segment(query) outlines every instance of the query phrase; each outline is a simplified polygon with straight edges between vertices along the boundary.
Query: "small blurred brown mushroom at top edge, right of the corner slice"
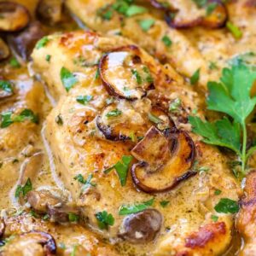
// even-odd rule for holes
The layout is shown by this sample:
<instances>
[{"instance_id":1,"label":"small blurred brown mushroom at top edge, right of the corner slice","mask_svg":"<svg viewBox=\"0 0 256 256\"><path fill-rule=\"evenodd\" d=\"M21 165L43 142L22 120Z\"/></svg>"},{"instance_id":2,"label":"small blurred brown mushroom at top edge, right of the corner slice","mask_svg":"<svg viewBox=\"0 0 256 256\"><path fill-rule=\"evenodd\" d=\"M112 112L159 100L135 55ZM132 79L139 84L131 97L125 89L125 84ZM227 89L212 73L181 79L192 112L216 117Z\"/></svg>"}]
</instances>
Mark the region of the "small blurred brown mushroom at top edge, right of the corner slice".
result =
<instances>
[{"instance_id":1,"label":"small blurred brown mushroom at top edge, right of the corner slice","mask_svg":"<svg viewBox=\"0 0 256 256\"><path fill-rule=\"evenodd\" d=\"M40 0L37 7L39 20L48 24L56 24L61 21L62 0Z\"/></svg>"}]
</instances>

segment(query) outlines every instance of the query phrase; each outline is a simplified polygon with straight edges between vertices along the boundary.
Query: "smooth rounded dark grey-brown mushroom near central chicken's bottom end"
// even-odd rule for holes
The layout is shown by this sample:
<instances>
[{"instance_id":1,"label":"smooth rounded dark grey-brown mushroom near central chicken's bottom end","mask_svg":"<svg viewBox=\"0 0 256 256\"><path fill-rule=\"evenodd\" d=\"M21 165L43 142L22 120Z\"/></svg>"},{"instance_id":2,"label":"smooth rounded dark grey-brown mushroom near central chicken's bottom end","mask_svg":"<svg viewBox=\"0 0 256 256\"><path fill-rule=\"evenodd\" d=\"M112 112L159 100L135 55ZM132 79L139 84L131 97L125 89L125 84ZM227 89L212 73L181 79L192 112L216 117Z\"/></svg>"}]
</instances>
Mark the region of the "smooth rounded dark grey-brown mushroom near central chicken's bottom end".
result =
<instances>
[{"instance_id":1,"label":"smooth rounded dark grey-brown mushroom near central chicken's bottom end","mask_svg":"<svg viewBox=\"0 0 256 256\"><path fill-rule=\"evenodd\" d=\"M131 243L153 241L160 231L163 218L159 211L147 209L128 215L119 230L119 236Z\"/></svg>"}]
</instances>

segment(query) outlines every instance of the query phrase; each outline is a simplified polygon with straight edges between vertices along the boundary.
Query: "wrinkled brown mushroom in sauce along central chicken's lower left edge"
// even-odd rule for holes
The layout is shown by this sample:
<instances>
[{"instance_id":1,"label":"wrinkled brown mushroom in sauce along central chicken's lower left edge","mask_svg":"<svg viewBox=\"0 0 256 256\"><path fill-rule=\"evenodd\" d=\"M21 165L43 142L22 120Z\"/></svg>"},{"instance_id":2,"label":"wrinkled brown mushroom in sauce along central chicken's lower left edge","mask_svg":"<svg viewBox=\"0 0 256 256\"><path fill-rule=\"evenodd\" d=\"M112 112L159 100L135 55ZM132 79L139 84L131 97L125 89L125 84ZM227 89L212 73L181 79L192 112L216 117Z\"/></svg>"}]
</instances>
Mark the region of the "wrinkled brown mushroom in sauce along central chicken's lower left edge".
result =
<instances>
[{"instance_id":1,"label":"wrinkled brown mushroom in sauce along central chicken's lower left edge","mask_svg":"<svg viewBox=\"0 0 256 256\"><path fill-rule=\"evenodd\" d=\"M74 207L68 207L66 202L47 190L32 190L27 194L27 201L35 212L47 213L52 222L65 223L69 221L69 214L78 214Z\"/></svg>"}]
</instances>

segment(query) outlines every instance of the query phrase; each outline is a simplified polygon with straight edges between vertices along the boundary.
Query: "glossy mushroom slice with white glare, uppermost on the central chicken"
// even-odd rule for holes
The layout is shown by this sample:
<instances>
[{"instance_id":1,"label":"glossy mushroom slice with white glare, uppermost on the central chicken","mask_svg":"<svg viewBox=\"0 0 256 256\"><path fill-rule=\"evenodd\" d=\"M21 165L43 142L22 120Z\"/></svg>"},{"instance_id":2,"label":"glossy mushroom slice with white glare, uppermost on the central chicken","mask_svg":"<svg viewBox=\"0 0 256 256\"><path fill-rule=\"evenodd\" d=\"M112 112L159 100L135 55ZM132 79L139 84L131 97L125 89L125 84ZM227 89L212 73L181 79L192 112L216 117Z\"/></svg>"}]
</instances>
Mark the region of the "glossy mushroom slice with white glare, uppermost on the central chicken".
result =
<instances>
[{"instance_id":1,"label":"glossy mushroom slice with white glare, uppermost on the central chicken","mask_svg":"<svg viewBox=\"0 0 256 256\"><path fill-rule=\"evenodd\" d=\"M143 61L140 49L127 45L102 56L99 69L108 93L121 99L136 100L154 89L150 63Z\"/></svg>"}]
</instances>

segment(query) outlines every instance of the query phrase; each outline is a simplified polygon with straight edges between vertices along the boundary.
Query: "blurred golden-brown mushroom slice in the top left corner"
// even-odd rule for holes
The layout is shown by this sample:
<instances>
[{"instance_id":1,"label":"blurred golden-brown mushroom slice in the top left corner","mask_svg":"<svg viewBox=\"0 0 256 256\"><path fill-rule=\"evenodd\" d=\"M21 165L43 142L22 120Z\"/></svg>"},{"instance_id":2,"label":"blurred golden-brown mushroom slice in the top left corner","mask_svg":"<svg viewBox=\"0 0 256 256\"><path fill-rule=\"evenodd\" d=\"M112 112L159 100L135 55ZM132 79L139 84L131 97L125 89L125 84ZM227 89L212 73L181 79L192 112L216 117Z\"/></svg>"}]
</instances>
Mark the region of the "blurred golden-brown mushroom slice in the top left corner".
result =
<instances>
[{"instance_id":1,"label":"blurred golden-brown mushroom slice in the top left corner","mask_svg":"<svg viewBox=\"0 0 256 256\"><path fill-rule=\"evenodd\" d=\"M17 32L30 21L28 10L19 3L0 2L0 31Z\"/></svg>"}]
</instances>

